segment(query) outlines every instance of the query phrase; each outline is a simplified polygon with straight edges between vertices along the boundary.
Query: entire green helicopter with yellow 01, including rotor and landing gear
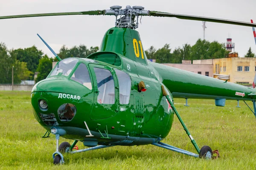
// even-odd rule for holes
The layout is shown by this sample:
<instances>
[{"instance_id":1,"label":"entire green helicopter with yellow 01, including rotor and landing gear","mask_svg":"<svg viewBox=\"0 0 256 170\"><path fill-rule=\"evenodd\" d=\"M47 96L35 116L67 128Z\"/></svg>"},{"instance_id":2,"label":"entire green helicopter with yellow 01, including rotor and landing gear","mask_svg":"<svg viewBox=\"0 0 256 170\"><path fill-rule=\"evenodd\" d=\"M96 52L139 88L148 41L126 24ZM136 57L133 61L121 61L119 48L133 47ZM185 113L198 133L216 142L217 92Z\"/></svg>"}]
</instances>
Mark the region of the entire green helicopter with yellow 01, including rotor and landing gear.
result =
<instances>
[{"instance_id":1,"label":"entire green helicopter with yellow 01, including rotor and landing gear","mask_svg":"<svg viewBox=\"0 0 256 170\"><path fill-rule=\"evenodd\" d=\"M32 90L32 105L36 119L56 136L54 163L64 162L59 150L76 153L115 145L139 144L154 144L189 156L211 158L211 148L204 146L199 150L186 129L173 105L172 95L182 98L215 99L217 106L224 106L225 99L250 100L253 101L255 108L256 91L148 62L140 36L134 30L138 27L138 17L150 15L242 26L256 25L145 11L141 6L120 8L112 6L110 10L0 17L8 19L73 14L116 16L116 27L106 32L99 52L87 59L64 60L59 59L53 52L61 61L48 78L36 84ZM117 20L119 15L121 17ZM136 17L137 23L134 22ZM177 115L199 155L160 142L171 129L173 113ZM75 141L71 146L63 142L58 148L59 136ZM71 151L78 141L92 148ZM101 145L97 146L98 144ZM218 152L216 153L218 155Z\"/></svg>"}]
</instances>

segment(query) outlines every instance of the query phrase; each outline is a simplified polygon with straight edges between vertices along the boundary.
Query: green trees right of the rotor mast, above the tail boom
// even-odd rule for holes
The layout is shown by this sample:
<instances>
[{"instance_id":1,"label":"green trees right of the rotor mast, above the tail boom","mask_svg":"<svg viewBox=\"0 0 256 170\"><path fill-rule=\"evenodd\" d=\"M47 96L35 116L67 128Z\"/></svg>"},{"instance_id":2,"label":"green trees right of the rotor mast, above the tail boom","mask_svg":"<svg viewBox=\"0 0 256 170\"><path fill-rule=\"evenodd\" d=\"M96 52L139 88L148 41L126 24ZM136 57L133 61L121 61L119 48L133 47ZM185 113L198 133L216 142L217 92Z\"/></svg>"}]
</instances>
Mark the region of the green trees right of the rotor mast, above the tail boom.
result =
<instances>
[{"instance_id":1,"label":"green trees right of the rotor mast, above the tail boom","mask_svg":"<svg viewBox=\"0 0 256 170\"><path fill-rule=\"evenodd\" d=\"M166 44L158 50L151 46L145 51L148 59L156 59L158 63L182 63L182 60L224 58L228 53L224 43L201 39L198 39L195 45L191 46L186 43L174 50L170 48L169 44ZM244 57L255 57L255 54L249 48Z\"/></svg>"}]
</instances>

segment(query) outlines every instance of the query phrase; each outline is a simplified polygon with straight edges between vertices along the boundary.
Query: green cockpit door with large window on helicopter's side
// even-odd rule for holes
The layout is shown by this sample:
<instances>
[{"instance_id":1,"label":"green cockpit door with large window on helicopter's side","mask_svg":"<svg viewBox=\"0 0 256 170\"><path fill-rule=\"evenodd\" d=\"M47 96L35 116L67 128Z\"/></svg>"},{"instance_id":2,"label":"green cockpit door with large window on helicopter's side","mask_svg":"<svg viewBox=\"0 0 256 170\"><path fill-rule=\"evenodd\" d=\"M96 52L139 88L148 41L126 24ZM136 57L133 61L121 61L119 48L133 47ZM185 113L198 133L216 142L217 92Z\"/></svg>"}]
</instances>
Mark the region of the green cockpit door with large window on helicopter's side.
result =
<instances>
[{"instance_id":1,"label":"green cockpit door with large window on helicopter's side","mask_svg":"<svg viewBox=\"0 0 256 170\"><path fill-rule=\"evenodd\" d=\"M94 105L90 118L106 119L118 113L117 80L113 70L108 66L89 64L93 77Z\"/></svg>"}]
</instances>

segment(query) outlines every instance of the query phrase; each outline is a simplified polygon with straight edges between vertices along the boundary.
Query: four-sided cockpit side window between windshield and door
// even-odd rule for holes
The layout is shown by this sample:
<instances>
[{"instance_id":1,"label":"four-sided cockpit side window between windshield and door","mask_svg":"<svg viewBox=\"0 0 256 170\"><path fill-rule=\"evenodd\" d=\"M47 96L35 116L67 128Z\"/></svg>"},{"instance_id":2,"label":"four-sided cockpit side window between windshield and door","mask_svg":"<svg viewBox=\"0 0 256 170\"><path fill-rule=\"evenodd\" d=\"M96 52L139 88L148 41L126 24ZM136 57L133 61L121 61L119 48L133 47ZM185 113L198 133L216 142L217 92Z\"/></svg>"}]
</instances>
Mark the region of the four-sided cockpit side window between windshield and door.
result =
<instances>
[{"instance_id":1,"label":"four-sided cockpit side window between windshield and door","mask_svg":"<svg viewBox=\"0 0 256 170\"><path fill-rule=\"evenodd\" d=\"M72 75L71 79L76 82L79 82L80 84L92 90L92 83L90 80L89 71L85 64L81 63L78 66L75 73Z\"/></svg>"}]
</instances>

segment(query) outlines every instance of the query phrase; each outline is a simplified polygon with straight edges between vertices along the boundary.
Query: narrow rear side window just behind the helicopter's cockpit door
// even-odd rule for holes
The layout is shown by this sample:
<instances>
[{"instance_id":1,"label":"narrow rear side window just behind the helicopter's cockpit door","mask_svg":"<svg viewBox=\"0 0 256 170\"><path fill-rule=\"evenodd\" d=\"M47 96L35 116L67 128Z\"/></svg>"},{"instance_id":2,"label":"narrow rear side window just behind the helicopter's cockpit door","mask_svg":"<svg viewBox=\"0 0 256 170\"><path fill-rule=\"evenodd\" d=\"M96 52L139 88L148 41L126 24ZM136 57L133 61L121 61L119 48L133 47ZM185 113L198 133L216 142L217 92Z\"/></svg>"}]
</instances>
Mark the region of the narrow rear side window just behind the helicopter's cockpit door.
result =
<instances>
[{"instance_id":1,"label":"narrow rear side window just behind the helicopter's cockpit door","mask_svg":"<svg viewBox=\"0 0 256 170\"><path fill-rule=\"evenodd\" d=\"M131 78L124 71L115 69L119 84L119 103L121 105L129 104L131 93Z\"/></svg>"}]
</instances>

